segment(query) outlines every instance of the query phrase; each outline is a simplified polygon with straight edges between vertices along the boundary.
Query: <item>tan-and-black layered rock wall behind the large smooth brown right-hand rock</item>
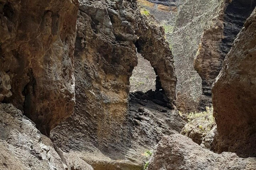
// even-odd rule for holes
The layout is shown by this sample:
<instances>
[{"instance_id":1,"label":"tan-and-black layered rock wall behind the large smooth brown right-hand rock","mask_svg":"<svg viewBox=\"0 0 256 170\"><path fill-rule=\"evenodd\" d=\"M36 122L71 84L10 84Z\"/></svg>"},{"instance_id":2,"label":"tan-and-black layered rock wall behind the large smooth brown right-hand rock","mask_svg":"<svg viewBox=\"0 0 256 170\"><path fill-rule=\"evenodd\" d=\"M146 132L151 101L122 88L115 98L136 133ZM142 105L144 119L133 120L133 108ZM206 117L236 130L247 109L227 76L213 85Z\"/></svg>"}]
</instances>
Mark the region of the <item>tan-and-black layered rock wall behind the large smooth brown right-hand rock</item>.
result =
<instances>
[{"instance_id":1,"label":"tan-and-black layered rock wall behind the large smooth brown right-hand rock","mask_svg":"<svg viewBox=\"0 0 256 170\"><path fill-rule=\"evenodd\" d=\"M204 31L194 63L195 70L202 78L202 109L211 105L213 81L218 76L223 60L237 34L255 6L255 0L222 0L213 24Z\"/></svg>"}]
</instances>

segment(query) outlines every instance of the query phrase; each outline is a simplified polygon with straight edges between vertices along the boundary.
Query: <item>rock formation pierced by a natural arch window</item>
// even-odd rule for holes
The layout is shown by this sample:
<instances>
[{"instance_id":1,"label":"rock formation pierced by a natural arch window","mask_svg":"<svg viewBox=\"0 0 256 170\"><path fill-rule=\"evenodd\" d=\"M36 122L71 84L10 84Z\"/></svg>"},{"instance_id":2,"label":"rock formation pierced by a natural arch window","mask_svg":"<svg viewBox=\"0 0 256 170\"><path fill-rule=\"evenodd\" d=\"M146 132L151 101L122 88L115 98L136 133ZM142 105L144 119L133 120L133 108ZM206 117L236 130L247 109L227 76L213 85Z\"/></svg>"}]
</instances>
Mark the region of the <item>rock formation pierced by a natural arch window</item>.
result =
<instances>
[{"instance_id":1,"label":"rock formation pierced by a natural arch window","mask_svg":"<svg viewBox=\"0 0 256 170\"><path fill-rule=\"evenodd\" d=\"M152 99L139 95L142 104L135 102L135 107L128 102L137 52L150 61L157 77ZM154 104L175 108L174 61L163 28L148 24L136 1L82 0L74 56L75 112L53 129L51 139L95 170L141 169L145 149L185 124L177 111ZM148 111L139 112L143 106ZM178 128L170 122L178 122Z\"/></svg>"}]
</instances>

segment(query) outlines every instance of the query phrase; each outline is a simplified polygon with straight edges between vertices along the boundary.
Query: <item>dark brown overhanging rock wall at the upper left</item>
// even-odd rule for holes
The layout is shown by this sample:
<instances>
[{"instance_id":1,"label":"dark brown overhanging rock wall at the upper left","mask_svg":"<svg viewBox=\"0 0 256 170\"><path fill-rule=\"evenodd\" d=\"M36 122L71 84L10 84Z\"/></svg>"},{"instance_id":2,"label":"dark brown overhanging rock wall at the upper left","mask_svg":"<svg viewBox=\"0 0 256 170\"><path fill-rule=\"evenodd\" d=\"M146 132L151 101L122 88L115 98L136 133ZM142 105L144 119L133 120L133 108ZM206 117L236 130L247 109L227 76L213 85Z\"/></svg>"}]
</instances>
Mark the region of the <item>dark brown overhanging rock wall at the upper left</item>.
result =
<instances>
[{"instance_id":1,"label":"dark brown overhanging rock wall at the upper left","mask_svg":"<svg viewBox=\"0 0 256 170\"><path fill-rule=\"evenodd\" d=\"M0 0L0 102L45 135L74 110L76 0Z\"/></svg>"}]
</instances>

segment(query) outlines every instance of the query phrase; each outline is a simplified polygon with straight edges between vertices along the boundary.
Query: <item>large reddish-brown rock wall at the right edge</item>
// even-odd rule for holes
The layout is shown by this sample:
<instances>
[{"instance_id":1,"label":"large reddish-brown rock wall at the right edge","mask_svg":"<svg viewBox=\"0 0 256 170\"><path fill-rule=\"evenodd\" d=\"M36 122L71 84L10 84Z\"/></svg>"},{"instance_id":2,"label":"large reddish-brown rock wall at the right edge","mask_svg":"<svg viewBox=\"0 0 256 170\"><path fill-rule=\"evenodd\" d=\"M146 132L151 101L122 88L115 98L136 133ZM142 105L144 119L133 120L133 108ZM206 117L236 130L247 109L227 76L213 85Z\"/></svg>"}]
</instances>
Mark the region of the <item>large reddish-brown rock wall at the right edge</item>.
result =
<instances>
[{"instance_id":1,"label":"large reddish-brown rock wall at the right edge","mask_svg":"<svg viewBox=\"0 0 256 170\"><path fill-rule=\"evenodd\" d=\"M213 85L216 150L256 156L256 13L244 24Z\"/></svg>"}]
</instances>

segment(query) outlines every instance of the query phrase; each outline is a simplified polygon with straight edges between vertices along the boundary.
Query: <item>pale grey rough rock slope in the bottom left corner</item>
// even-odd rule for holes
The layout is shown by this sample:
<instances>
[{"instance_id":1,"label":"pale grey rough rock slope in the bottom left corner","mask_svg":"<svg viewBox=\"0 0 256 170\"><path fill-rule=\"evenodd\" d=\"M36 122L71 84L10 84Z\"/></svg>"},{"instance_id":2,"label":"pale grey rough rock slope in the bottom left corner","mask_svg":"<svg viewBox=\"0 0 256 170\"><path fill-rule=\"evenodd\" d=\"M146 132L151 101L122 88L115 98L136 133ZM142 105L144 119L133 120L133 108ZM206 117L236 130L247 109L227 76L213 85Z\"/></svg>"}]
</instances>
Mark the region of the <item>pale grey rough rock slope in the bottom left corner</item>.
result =
<instances>
[{"instance_id":1,"label":"pale grey rough rock slope in the bottom left corner","mask_svg":"<svg viewBox=\"0 0 256 170\"><path fill-rule=\"evenodd\" d=\"M67 157L12 104L0 104L0 132L1 170L93 170L76 155Z\"/></svg>"}]
</instances>

